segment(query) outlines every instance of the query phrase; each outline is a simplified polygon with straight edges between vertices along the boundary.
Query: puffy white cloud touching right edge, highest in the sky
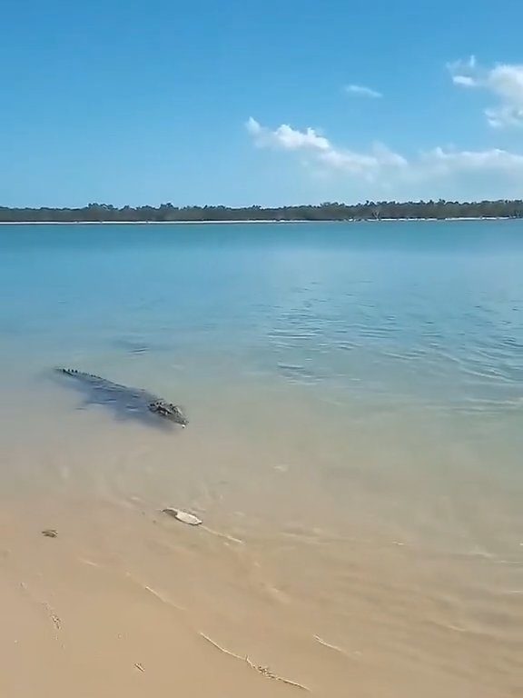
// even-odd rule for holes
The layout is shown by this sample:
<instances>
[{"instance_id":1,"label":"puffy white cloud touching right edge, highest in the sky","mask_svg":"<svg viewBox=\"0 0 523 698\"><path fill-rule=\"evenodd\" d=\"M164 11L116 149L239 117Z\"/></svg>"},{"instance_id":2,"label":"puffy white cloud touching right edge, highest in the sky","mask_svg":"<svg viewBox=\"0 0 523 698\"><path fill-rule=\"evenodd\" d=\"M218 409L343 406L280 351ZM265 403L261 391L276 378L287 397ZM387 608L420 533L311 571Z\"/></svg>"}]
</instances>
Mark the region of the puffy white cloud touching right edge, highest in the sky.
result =
<instances>
[{"instance_id":1,"label":"puffy white cloud touching right edge, highest in the sky","mask_svg":"<svg viewBox=\"0 0 523 698\"><path fill-rule=\"evenodd\" d=\"M489 125L523 126L523 65L498 64L487 69L471 56L448 67L455 85L482 88L498 98L498 105L485 109Z\"/></svg>"}]
</instances>

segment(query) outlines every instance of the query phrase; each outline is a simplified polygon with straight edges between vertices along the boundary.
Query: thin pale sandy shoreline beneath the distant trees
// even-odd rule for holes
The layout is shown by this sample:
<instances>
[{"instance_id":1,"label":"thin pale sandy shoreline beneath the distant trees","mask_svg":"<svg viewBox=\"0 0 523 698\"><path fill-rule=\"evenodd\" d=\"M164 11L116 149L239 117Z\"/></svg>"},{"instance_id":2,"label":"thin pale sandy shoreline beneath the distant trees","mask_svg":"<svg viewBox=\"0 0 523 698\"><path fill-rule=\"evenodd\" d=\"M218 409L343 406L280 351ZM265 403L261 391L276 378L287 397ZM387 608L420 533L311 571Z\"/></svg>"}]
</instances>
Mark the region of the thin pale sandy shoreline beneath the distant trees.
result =
<instances>
[{"instance_id":1,"label":"thin pale sandy shoreline beneath the distant trees","mask_svg":"<svg viewBox=\"0 0 523 698\"><path fill-rule=\"evenodd\" d=\"M239 224L352 224L352 223L408 223L416 221L432 221L444 223L446 221L518 221L509 215L483 215L483 216L456 216L449 218L352 218L331 220L231 220L231 221L0 221L0 225L239 225Z\"/></svg>"}]
</instances>

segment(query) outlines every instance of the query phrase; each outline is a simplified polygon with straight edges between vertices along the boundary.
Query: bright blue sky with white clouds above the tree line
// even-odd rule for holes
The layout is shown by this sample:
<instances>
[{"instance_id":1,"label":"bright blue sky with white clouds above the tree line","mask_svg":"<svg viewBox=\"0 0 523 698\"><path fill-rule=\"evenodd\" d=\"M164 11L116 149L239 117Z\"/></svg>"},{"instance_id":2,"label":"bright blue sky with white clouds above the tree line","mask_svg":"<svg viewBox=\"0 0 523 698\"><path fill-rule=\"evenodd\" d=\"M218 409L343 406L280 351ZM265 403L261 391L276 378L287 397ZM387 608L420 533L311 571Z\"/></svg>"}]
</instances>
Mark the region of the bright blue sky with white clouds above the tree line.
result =
<instances>
[{"instance_id":1,"label":"bright blue sky with white clouds above the tree line","mask_svg":"<svg viewBox=\"0 0 523 698\"><path fill-rule=\"evenodd\" d=\"M3 0L0 205L523 198L523 2Z\"/></svg>"}]
</instances>

